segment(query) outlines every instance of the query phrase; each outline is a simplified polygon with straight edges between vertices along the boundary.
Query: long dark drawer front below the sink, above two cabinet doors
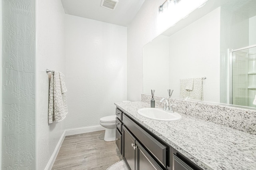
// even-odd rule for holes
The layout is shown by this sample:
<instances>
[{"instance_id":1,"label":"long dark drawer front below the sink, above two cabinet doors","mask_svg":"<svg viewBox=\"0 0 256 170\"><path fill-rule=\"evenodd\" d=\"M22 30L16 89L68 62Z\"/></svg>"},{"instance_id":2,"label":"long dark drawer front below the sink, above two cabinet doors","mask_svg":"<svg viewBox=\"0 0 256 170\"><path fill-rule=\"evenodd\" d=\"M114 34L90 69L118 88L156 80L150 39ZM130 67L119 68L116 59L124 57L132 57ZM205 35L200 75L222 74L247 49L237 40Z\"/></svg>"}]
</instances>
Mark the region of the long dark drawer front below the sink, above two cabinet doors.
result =
<instances>
[{"instance_id":1,"label":"long dark drawer front below the sink, above two cabinet doors","mask_svg":"<svg viewBox=\"0 0 256 170\"><path fill-rule=\"evenodd\" d=\"M148 132L139 127L129 117L123 114L123 125L125 125L138 138L146 149L159 160L159 162L166 167L166 146L158 142Z\"/></svg>"}]
</instances>

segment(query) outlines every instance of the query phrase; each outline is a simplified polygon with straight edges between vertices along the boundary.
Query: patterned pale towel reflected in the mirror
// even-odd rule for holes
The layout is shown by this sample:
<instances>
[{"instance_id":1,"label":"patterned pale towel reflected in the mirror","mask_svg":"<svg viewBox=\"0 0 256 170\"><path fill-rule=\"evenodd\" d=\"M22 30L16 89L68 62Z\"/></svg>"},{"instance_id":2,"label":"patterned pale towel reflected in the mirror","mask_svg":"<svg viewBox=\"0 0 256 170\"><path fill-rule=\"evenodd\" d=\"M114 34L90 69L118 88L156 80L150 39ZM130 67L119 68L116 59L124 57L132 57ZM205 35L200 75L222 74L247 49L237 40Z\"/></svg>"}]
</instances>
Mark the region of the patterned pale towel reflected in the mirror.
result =
<instances>
[{"instance_id":1,"label":"patterned pale towel reflected in the mirror","mask_svg":"<svg viewBox=\"0 0 256 170\"><path fill-rule=\"evenodd\" d=\"M192 91L186 90L191 89L188 85L193 79L193 88ZM180 97L184 99L194 99L194 100L204 100L203 95L203 79L200 78L189 78L189 79L180 79Z\"/></svg>"}]
</instances>

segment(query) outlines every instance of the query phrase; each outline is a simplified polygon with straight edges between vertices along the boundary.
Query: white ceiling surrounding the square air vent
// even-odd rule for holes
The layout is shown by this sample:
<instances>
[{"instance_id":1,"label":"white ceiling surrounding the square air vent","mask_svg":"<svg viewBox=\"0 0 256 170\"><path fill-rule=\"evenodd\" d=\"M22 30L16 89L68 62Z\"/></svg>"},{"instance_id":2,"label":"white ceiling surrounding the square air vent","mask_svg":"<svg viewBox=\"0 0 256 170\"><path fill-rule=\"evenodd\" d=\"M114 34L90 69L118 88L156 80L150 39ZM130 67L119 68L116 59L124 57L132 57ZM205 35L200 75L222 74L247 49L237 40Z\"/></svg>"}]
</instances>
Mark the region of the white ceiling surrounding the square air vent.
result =
<instances>
[{"instance_id":1,"label":"white ceiling surrounding the square air vent","mask_svg":"<svg viewBox=\"0 0 256 170\"><path fill-rule=\"evenodd\" d=\"M114 11L101 7L101 0L61 1L66 14L128 26L145 0L119 0Z\"/></svg>"}]
</instances>

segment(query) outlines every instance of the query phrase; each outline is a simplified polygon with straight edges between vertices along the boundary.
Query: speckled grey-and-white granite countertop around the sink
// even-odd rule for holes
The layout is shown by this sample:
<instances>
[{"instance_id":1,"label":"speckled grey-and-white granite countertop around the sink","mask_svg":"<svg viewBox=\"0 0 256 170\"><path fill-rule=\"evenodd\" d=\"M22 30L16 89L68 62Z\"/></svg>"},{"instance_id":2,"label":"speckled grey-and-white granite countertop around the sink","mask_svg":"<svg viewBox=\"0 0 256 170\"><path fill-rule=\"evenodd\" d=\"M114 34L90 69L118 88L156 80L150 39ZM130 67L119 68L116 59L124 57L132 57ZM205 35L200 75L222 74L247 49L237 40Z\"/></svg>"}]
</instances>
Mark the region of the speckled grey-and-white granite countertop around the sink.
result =
<instances>
[{"instance_id":1,"label":"speckled grey-and-white granite countertop around the sink","mask_svg":"<svg viewBox=\"0 0 256 170\"><path fill-rule=\"evenodd\" d=\"M205 170L256 170L256 135L184 114L178 121L157 121L137 113L143 102L115 103L130 117Z\"/></svg>"}]
</instances>

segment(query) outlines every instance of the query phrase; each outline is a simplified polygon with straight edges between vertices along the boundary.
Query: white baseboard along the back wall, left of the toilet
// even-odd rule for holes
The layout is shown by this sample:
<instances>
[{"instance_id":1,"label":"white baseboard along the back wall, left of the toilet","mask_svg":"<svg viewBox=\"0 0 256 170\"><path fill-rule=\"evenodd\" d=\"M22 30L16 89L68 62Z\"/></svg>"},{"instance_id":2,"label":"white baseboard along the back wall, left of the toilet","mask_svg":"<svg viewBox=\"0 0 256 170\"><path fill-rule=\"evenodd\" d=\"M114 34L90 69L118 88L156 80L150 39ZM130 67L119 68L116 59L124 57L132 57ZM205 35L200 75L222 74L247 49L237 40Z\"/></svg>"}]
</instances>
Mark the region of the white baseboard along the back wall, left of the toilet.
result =
<instances>
[{"instance_id":1,"label":"white baseboard along the back wall, left of the toilet","mask_svg":"<svg viewBox=\"0 0 256 170\"><path fill-rule=\"evenodd\" d=\"M88 132L96 132L100 130L105 130L105 128L102 127L101 125L97 125L97 126L91 126L91 127L66 129L66 136L81 134L81 133L88 133Z\"/></svg>"}]
</instances>

